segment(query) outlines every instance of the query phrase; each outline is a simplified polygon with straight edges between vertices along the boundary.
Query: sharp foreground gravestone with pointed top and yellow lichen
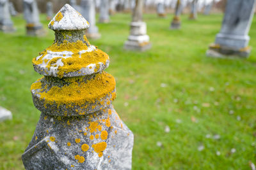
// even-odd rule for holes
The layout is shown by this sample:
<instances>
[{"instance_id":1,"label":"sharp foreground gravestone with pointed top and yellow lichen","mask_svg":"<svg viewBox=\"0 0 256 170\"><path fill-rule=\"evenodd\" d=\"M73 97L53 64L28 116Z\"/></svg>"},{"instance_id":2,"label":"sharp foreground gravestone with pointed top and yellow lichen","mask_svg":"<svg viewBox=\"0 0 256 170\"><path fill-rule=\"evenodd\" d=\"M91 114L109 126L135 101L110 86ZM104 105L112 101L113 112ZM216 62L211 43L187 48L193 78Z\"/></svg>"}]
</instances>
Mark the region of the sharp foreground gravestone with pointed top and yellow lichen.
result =
<instances>
[{"instance_id":1,"label":"sharp foreground gravestone with pointed top and yellow lichen","mask_svg":"<svg viewBox=\"0 0 256 170\"><path fill-rule=\"evenodd\" d=\"M49 24L54 43L33 59L42 111L22 155L26 169L131 169L133 134L116 113L108 54L90 45L82 15L65 4Z\"/></svg>"}]
</instances>

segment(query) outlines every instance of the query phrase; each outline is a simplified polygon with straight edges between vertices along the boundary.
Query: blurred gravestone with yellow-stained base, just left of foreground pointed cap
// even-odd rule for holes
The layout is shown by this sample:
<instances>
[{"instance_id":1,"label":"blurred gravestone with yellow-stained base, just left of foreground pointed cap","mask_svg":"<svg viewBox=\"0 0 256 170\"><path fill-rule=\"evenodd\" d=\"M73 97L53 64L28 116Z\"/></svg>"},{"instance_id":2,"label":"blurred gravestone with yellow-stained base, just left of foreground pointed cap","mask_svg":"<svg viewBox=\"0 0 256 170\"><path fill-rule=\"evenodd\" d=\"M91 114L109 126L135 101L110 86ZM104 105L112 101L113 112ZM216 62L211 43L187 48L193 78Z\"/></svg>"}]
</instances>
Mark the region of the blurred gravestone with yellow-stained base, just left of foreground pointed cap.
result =
<instances>
[{"instance_id":1,"label":"blurred gravestone with yellow-stained base, just left of foreground pointed cap","mask_svg":"<svg viewBox=\"0 0 256 170\"><path fill-rule=\"evenodd\" d=\"M27 25L26 30L28 36L44 36L42 24L39 19L39 11L35 0L23 0L24 3L24 18Z\"/></svg>"}]
</instances>

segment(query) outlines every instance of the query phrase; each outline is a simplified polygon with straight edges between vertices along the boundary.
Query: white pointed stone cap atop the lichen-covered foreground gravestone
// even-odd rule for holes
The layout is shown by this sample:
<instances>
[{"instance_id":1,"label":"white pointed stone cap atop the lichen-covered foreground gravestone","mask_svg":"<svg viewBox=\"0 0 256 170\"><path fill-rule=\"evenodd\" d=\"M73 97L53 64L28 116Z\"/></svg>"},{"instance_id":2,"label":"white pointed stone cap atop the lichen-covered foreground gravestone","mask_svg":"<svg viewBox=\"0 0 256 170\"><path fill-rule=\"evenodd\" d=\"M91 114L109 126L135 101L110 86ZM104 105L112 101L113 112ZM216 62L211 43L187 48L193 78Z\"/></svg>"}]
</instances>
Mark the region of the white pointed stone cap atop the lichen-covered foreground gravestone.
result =
<instances>
[{"instance_id":1,"label":"white pointed stone cap atop the lichen-covered foreground gravestone","mask_svg":"<svg viewBox=\"0 0 256 170\"><path fill-rule=\"evenodd\" d=\"M90 24L78 11L72 8L72 6L65 4L51 20L48 27L54 31L72 31L88 29Z\"/></svg>"}]
</instances>

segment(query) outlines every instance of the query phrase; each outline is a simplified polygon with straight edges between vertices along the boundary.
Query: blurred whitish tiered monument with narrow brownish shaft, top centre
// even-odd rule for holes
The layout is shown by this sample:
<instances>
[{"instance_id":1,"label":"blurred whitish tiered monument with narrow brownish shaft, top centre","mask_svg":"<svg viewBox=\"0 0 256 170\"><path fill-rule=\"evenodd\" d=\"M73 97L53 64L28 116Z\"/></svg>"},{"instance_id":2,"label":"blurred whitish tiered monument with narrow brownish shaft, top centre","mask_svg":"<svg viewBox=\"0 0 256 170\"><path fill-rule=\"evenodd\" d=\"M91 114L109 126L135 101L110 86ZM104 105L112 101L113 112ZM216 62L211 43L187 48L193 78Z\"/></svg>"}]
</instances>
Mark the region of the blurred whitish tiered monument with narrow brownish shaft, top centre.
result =
<instances>
[{"instance_id":1,"label":"blurred whitish tiered monument with narrow brownish shaft, top centre","mask_svg":"<svg viewBox=\"0 0 256 170\"><path fill-rule=\"evenodd\" d=\"M132 13L130 35L124 45L126 50L145 51L152 46L147 35L147 24L143 22L142 16L143 0L136 0L136 5Z\"/></svg>"}]
</instances>

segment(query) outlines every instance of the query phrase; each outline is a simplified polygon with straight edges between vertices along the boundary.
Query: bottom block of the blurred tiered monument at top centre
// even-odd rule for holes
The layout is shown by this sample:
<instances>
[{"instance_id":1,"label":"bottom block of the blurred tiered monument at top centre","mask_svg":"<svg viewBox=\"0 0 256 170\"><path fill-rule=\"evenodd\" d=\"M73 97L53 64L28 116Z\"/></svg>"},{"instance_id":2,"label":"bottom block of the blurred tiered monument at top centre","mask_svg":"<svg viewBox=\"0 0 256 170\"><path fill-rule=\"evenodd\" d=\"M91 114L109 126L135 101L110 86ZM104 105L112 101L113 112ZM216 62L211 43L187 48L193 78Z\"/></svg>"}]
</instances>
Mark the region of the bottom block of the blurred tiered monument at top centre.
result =
<instances>
[{"instance_id":1,"label":"bottom block of the blurred tiered monument at top centre","mask_svg":"<svg viewBox=\"0 0 256 170\"><path fill-rule=\"evenodd\" d=\"M124 48L125 50L134 50L134 51L140 51L144 52L145 50L149 50L152 47L152 44L150 42L143 42L138 43L136 41L126 41Z\"/></svg>"}]
</instances>

